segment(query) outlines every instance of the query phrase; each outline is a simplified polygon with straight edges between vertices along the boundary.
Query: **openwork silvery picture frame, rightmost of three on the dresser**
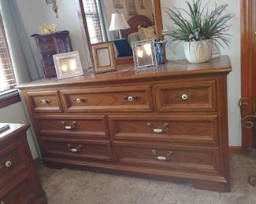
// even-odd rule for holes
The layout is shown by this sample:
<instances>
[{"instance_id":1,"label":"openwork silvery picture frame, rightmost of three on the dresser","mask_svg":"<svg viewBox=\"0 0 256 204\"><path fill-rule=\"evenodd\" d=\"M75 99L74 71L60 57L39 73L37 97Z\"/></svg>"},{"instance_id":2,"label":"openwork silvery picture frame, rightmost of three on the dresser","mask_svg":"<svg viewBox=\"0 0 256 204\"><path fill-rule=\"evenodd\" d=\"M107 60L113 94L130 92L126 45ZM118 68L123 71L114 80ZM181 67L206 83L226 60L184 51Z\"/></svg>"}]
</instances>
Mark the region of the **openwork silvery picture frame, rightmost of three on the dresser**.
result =
<instances>
[{"instance_id":1,"label":"openwork silvery picture frame, rightmost of three on the dresser","mask_svg":"<svg viewBox=\"0 0 256 204\"><path fill-rule=\"evenodd\" d=\"M132 42L135 71L145 71L158 67L154 40Z\"/></svg>"}]
</instances>

